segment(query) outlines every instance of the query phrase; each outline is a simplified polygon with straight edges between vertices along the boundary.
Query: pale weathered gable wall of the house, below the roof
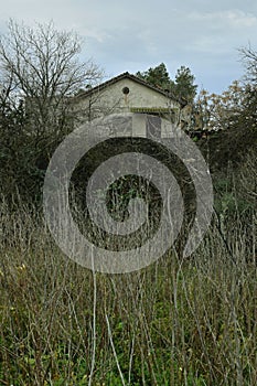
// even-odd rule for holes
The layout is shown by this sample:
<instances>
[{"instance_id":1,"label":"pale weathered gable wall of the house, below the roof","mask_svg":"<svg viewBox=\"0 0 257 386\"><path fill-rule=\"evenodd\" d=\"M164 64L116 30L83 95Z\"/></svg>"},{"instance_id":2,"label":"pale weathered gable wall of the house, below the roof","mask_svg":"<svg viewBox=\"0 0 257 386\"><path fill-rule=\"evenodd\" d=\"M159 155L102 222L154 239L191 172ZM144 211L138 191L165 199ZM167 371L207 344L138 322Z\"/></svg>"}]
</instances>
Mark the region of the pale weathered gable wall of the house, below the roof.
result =
<instances>
[{"instance_id":1,"label":"pale weathered gable wall of the house, below the roof","mask_svg":"<svg viewBox=\"0 0 257 386\"><path fill-rule=\"evenodd\" d=\"M125 93L125 88L129 93ZM130 112L133 125L126 136L131 137L151 138L153 135L159 138L172 138L174 135L172 128L180 127L181 122L181 109L176 100L130 78L119 79L99 92L94 90L82 95L76 100L75 109L81 116L81 124L111 114ZM157 124L147 127L146 114L159 116ZM120 133L120 136L124 135L124 132Z\"/></svg>"}]
</instances>

